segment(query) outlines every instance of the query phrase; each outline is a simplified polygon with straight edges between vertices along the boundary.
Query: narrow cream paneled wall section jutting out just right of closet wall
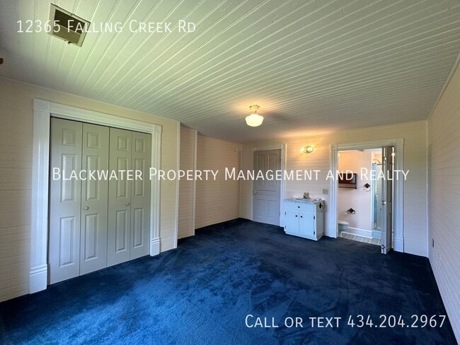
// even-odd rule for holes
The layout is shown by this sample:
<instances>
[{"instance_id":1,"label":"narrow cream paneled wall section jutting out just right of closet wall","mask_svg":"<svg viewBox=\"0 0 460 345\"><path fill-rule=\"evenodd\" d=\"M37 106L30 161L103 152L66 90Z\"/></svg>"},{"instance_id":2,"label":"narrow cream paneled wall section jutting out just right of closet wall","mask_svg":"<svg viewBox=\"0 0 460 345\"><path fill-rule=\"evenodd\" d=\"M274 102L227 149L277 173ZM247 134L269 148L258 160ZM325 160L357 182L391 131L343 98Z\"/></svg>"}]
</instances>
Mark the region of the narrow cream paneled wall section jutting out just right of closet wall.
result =
<instances>
[{"instance_id":1,"label":"narrow cream paneled wall section jutting out just right of closet wall","mask_svg":"<svg viewBox=\"0 0 460 345\"><path fill-rule=\"evenodd\" d=\"M197 131L180 127L180 170L195 170ZM195 235L195 181L179 181L178 238Z\"/></svg>"}]
</instances>

